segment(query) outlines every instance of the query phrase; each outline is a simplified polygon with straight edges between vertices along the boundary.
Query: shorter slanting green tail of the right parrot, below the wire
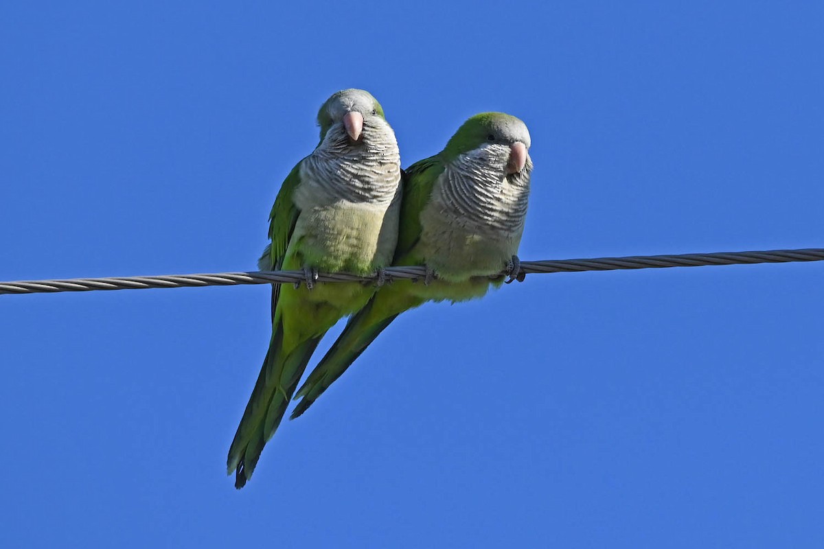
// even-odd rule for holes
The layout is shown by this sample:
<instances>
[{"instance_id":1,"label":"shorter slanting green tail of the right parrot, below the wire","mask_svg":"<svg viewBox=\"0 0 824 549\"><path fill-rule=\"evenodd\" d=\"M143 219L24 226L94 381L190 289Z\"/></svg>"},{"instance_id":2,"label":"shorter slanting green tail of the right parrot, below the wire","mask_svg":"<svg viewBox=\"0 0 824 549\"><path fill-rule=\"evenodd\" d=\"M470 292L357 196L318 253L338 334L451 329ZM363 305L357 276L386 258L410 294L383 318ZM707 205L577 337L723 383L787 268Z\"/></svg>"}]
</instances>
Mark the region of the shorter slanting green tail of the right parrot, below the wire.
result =
<instances>
[{"instance_id":1,"label":"shorter slanting green tail of the right parrot, below the wire","mask_svg":"<svg viewBox=\"0 0 824 549\"><path fill-rule=\"evenodd\" d=\"M349 319L344 331L316 365L315 370L312 370L306 382L295 395L295 398L301 398L301 401L297 403L297 407L293 410L291 419L295 419L301 416L303 412L306 412L312 403L336 379L343 375L369 344L375 341L375 338L400 314L396 313L382 319L374 319L372 318L374 303L375 299L373 298L368 305L358 311L358 314Z\"/></svg>"}]
</instances>

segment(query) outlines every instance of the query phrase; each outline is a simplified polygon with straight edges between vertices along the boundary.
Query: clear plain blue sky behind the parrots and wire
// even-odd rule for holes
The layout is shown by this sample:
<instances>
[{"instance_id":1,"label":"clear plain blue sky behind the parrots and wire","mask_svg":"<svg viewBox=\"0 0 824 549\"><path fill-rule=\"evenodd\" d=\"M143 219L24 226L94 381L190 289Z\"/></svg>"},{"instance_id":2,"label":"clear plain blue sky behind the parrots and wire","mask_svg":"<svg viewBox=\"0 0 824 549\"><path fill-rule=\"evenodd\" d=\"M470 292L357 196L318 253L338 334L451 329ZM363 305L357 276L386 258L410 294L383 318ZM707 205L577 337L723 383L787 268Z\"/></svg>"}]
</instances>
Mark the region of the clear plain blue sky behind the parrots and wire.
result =
<instances>
[{"instance_id":1,"label":"clear plain blue sky behind the parrots and wire","mask_svg":"<svg viewBox=\"0 0 824 549\"><path fill-rule=\"evenodd\" d=\"M822 247L822 23L816 2L7 2L0 280L255 268L349 86L404 165L476 112L526 121L523 259ZM2 537L821 547L822 279L554 274L424 306L243 491L224 463L267 287L0 296Z\"/></svg>"}]
</instances>

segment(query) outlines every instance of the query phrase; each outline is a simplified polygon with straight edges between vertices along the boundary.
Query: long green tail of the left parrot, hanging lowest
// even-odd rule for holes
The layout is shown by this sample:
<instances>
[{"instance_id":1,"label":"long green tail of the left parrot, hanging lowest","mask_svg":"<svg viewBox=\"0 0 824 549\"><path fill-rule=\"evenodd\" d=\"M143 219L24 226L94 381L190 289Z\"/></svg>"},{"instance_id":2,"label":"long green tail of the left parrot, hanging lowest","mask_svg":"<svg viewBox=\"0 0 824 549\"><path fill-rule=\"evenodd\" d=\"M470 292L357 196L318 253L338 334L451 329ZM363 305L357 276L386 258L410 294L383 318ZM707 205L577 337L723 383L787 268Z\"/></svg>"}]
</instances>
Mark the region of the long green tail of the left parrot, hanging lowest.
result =
<instances>
[{"instance_id":1,"label":"long green tail of the left parrot, hanging lowest","mask_svg":"<svg viewBox=\"0 0 824 549\"><path fill-rule=\"evenodd\" d=\"M274 431L278 430L297 382L322 336L308 339L285 354L281 350L283 325L278 322L275 326L255 389L229 449L227 469L230 475L235 472L236 488L245 486L255 471L260 452Z\"/></svg>"}]
</instances>

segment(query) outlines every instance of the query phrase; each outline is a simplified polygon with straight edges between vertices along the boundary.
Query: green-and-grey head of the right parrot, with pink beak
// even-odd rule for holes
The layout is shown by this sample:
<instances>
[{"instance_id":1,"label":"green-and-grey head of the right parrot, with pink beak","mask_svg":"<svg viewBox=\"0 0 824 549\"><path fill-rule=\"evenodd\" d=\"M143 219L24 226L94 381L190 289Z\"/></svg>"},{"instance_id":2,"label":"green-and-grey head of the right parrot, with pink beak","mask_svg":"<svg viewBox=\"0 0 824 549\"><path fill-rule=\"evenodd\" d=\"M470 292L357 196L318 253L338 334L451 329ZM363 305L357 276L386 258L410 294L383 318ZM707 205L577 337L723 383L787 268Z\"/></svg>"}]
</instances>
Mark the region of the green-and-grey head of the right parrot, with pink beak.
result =
<instances>
[{"instance_id":1,"label":"green-and-grey head of the right parrot, with pink beak","mask_svg":"<svg viewBox=\"0 0 824 549\"><path fill-rule=\"evenodd\" d=\"M531 170L529 147L531 139L527 124L511 114L481 113L458 128L441 152L444 161L459 156L483 152L494 168L506 174L520 174Z\"/></svg>"}]
</instances>

